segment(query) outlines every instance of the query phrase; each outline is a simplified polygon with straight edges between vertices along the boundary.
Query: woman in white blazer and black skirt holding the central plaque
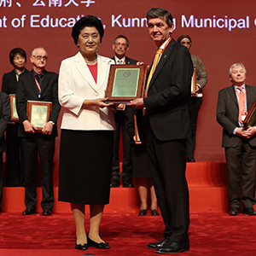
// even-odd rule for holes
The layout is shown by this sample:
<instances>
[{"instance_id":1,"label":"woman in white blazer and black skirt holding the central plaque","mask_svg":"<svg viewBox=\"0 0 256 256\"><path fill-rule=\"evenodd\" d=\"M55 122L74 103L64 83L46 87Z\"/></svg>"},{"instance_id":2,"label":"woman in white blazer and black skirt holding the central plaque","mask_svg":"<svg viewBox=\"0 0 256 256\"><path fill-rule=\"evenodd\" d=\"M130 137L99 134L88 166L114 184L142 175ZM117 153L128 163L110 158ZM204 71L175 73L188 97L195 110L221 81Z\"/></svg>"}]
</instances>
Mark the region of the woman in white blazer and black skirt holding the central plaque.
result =
<instances>
[{"instance_id":1,"label":"woman in white blazer and black skirt holding the central plaque","mask_svg":"<svg viewBox=\"0 0 256 256\"><path fill-rule=\"evenodd\" d=\"M72 37L79 53L61 62L59 101L61 123L59 201L71 203L76 224L76 248L109 249L99 235L105 204L109 203L113 159L112 104L104 98L114 62L96 53L104 34L102 21L81 18ZM90 231L84 229L84 206L90 205Z\"/></svg>"}]
</instances>

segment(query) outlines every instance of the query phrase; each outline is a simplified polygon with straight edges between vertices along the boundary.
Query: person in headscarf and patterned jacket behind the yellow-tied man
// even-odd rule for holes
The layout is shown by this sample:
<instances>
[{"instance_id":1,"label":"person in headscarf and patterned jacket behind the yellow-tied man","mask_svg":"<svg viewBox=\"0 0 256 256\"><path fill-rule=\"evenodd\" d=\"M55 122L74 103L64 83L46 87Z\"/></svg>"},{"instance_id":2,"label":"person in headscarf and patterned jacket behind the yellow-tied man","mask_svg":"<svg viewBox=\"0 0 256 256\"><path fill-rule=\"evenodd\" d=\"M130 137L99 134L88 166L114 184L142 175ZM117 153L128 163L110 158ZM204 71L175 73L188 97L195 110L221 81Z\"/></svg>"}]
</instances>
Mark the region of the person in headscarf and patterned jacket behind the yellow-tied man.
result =
<instances>
[{"instance_id":1,"label":"person in headscarf and patterned jacket behind the yellow-tied man","mask_svg":"<svg viewBox=\"0 0 256 256\"><path fill-rule=\"evenodd\" d=\"M182 35L177 38L177 42L183 44L190 50L192 40L188 35ZM196 90L195 95L191 95L191 118L193 123L193 137L187 139L187 160L188 162L195 162L195 136L196 136L196 123L199 109L202 102L202 89L207 84L207 71L201 58L197 55L191 55L192 62L196 72Z\"/></svg>"}]
</instances>

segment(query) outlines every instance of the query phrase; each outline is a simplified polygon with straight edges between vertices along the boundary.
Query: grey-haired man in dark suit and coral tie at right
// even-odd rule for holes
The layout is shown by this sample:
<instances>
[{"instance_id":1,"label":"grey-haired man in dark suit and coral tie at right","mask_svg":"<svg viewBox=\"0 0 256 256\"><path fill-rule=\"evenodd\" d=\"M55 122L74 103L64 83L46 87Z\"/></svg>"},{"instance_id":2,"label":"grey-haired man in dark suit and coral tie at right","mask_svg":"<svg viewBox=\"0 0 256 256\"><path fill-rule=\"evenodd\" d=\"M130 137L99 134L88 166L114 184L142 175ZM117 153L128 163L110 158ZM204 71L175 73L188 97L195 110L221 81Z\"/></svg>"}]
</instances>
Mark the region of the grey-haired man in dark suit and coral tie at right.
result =
<instances>
[{"instance_id":1,"label":"grey-haired man in dark suit and coral tie at right","mask_svg":"<svg viewBox=\"0 0 256 256\"><path fill-rule=\"evenodd\" d=\"M247 111L256 101L256 87L246 85L246 68L241 63L230 67L232 86L218 93L217 120L223 126L222 147L228 171L230 215L239 214L241 203L245 215L256 215L255 166L256 127L244 128ZM242 195L241 195L242 177Z\"/></svg>"}]
</instances>

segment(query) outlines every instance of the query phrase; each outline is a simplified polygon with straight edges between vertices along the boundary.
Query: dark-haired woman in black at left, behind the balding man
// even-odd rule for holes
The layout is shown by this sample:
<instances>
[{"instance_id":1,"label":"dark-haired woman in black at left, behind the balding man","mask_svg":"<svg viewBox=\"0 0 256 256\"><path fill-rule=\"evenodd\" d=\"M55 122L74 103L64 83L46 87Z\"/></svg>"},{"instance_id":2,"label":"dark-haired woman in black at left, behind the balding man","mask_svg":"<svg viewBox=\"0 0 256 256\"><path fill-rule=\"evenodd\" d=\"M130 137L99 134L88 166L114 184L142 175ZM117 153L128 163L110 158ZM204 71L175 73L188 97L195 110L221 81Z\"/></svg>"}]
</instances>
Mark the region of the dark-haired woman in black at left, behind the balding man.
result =
<instances>
[{"instance_id":1,"label":"dark-haired woman in black at left, behind the balding man","mask_svg":"<svg viewBox=\"0 0 256 256\"><path fill-rule=\"evenodd\" d=\"M9 52L9 61L15 69L3 74L2 91L10 94L16 93L16 87L22 73L28 72L25 68L26 52L15 48ZM11 122L6 130L6 186L16 187L22 185L24 173L20 169L20 138L17 136L19 123Z\"/></svg>"}]
</instances>

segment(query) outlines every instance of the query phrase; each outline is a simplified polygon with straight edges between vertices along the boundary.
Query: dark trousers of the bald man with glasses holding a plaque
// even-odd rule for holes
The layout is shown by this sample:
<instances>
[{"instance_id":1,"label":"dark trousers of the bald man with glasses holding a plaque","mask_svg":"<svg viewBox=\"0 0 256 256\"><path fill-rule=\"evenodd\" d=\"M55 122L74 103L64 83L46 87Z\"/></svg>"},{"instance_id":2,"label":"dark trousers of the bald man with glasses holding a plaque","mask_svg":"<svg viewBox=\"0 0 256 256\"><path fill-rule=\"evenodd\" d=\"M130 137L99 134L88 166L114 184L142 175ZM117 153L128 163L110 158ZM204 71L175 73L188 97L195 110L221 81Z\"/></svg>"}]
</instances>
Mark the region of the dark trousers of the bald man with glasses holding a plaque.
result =
<instances>
[{"instance_id":1,"label":"dark trousers of the bald man with glasses holding a plaque","mask_svg":"<svg viewBox=\"0 0 256 256\"><path fill-rule=\"evenodd\" d=\"M43 200L41 207L51 210L54 206L53 157L55 137L35 134L33 137L21 137L21 159L25 170L26 208L36 207L38 153L42 171Z\"/></svg>"}]
</instances>

